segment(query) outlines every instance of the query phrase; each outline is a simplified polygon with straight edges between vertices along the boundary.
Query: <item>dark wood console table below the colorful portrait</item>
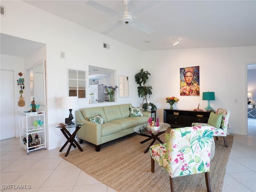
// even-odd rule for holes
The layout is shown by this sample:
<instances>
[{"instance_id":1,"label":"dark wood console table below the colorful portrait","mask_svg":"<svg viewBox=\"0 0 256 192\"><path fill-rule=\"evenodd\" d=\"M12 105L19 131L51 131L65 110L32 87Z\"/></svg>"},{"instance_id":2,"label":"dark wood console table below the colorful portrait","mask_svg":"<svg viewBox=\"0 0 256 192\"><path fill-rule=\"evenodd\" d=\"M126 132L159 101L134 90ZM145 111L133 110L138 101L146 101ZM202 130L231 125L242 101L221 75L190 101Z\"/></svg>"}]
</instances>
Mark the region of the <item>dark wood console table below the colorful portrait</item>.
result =
<instances>
[{"instance_id":1,"label":"dark wood console table below the colorful portrait","mask_svg":"<svg viewBox=\"0 0 256 192\"><path fill-rule=\"evenodd\" d=\"M193 110L178 110L164 109L164 122L171 127L188 127L194 122L207 123L210 112L193 111Z\"/></svg>"}]
</instances>

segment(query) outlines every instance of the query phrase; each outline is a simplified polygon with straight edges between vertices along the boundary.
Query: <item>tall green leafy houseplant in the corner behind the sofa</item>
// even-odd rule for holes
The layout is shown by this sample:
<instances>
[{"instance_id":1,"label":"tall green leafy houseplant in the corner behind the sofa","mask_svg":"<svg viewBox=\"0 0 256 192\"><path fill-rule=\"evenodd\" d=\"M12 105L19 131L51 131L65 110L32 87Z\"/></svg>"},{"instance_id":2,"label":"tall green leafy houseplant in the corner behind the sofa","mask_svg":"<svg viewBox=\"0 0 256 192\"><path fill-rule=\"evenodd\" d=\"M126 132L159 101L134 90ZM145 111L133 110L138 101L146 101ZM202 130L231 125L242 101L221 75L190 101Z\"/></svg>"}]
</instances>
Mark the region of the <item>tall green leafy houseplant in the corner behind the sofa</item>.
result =
<instances>
[{"instance_id":1,"label":"tall green leafy houseplant in the corner behind the sofa","mask_svg":"<svg viewBox=\"0 0 256 192\"><path fill-rule=\"evenodd\" d=\"M156 106L153 103L148 104L147 102L147 99L150 98L150 95L152 95L152 86L145 85L148 81L148 76L150 76L150 73L148 71L144 71L143 69L141 69L140 72L135 75L135 81L139 85L137 87L138 96L142 98L142 108L144 110L147 110L148 106L152 107L151 110L156 110ZM146 102L144 103L144 101Z\"/></svg>"}]
</instances>

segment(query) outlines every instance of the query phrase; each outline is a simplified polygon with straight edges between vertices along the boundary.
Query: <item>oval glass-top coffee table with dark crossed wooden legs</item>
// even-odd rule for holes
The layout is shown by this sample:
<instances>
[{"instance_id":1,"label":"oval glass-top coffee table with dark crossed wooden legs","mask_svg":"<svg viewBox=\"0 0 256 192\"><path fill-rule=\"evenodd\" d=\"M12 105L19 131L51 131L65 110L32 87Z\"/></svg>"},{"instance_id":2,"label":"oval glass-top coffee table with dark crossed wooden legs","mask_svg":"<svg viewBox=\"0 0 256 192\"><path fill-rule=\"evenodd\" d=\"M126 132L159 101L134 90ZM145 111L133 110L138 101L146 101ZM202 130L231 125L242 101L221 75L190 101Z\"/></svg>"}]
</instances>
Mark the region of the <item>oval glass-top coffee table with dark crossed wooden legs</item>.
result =
<instances>
[{"instance_id":1,"label":"oval glass-top coffee table with dark crossed wooden legs","mask_svg":"<svg viewBox=\"0 0 256 192\"><path fill-rule=\"evenodd\" d=\"M147 123L134 127L133 129L134 132L138 133L141 136L148 137L147 139L143 140L140 143L147 142L151 139L153 140L144 153L148 152L150 146L152 146L156 140L158 140L160 143L164 143L160 140L160 138L158 138L158 136L162 135L166 130L170 129L171 126L168 123L162 123L162 122L159 123L159 126L160 126L159 130L153 131L153 132L150 132L147 130Z\"/></svg>"}]
</instances>

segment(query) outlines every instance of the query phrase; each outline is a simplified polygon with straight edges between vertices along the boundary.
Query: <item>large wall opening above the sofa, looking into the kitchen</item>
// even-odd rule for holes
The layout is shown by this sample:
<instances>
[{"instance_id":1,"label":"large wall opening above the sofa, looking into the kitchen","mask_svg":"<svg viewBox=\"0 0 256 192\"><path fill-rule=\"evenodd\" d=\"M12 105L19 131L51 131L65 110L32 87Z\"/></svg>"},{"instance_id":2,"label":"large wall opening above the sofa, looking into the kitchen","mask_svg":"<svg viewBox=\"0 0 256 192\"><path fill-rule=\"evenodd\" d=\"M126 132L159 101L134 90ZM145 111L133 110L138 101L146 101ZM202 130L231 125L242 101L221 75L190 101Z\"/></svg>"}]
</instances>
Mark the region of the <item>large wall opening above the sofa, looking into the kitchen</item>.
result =
<instances>
[{"instance_id":1,"label":"large wall opening above the sofa, looking into the kitchen","mask_svg":"<svg viewBox=\"0 0 256 192\"><path fill-rule=\"evenodd\" d=\"M90 103L108 102L108 94L104 86L115 85L116 70L89 65L89 90Z\"/></svg>"}]
</instances>

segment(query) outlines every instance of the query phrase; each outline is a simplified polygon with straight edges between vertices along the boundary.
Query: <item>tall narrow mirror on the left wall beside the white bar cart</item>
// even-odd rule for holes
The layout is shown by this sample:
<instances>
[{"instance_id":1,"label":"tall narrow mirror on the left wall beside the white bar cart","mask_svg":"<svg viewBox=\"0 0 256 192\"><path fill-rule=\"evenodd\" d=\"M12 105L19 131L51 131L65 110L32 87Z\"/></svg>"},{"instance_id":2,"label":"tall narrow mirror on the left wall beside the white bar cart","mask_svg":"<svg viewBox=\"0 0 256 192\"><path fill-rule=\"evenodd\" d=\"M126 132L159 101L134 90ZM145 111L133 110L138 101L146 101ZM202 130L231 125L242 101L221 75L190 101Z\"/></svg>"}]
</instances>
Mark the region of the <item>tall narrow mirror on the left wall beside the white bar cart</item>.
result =
<instances>
[{"instance_id":1,"label":"tall narrow mirror on the left wall beside the white bar cart","mask_svg":"<svg viewBox=\"0 0 256 192\"><path fill-rule=\"evenodd\" d=\"M30 73L30 84L33 84L34 98L38 105L46 105L46 82L45 82L45 62L44 60L34 64L33 78ZM31 91L30 91L31 92Z\"/></svg>"}]
</instances>

